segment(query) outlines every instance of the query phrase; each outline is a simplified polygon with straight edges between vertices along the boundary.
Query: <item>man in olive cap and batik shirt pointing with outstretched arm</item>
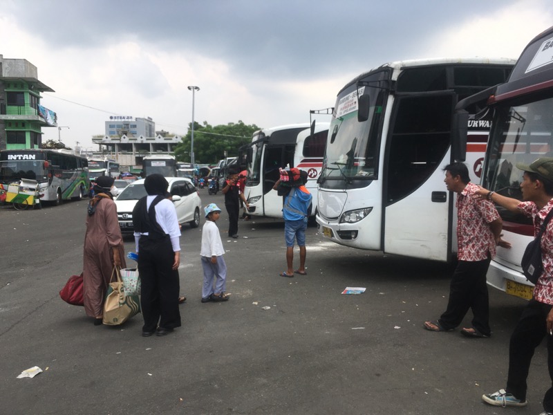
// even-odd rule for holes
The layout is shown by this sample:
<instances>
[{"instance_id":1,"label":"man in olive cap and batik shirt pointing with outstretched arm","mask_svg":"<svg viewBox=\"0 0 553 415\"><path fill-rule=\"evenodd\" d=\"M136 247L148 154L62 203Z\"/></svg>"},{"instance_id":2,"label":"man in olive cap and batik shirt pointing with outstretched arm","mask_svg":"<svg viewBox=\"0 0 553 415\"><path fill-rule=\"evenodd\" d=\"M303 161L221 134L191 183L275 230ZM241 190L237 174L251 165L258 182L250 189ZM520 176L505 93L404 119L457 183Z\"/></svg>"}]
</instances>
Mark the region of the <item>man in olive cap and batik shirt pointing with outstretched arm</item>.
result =
<instances>
[{"instance_id":1,"label":"man in olive cap and batik shirt pointing with outstretched arm","mask_svg":"<svg viewBox=\"0 0 553 415\"><path fill-rule=\"evenodd\" d=\"M517 163L516 167L524 171L521 191L524 201L518 201L482 187L479 197L486 198L510 212L532 217L534 236L539 231L545 216L553 208L553 158L542 157L530 165ZM516 325L509 344L509 373L507 386L494 394L482 395L482 400L490 405L525 406L530 362L534 349L547 336L547 367L553 383L553 221L541 237L541 257L543 273L538 278L532 299ZM545 393L541 415L553 414L553 387Z\"/></svg>"}]
</instances>

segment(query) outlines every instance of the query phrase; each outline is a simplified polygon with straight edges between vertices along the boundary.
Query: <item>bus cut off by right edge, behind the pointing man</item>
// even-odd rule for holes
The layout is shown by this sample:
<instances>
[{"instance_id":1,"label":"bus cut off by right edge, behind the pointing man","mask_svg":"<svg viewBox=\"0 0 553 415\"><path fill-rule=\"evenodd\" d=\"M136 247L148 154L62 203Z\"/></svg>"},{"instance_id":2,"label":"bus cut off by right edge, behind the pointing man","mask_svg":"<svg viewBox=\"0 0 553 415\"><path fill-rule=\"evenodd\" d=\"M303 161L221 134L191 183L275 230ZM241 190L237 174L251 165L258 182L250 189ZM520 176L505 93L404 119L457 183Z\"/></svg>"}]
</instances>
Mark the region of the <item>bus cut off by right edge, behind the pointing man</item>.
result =
<instances>
[{"instance_id":1,"label":"bus cut off by right edge, behind the pointing man","mask_svg":"<svg viewBox=\"0 0 553 415\"><path fill-rule=\"evenodd\" d=\"M456 117L463 124L467 105L487 102L484 120L491 131L482 169L482 185L522 200L523 172L516 163L553 156L553 27L538 35L523 50L504 84L459 102ZM460 138L466 136L460 133ZM498 247L491 261L488 284L509 294L532 298L532 283L521 270L523 252L534 237L532 220L497 207L503 219L503 239L511 249Z\"/></svg>"}]
</instances>

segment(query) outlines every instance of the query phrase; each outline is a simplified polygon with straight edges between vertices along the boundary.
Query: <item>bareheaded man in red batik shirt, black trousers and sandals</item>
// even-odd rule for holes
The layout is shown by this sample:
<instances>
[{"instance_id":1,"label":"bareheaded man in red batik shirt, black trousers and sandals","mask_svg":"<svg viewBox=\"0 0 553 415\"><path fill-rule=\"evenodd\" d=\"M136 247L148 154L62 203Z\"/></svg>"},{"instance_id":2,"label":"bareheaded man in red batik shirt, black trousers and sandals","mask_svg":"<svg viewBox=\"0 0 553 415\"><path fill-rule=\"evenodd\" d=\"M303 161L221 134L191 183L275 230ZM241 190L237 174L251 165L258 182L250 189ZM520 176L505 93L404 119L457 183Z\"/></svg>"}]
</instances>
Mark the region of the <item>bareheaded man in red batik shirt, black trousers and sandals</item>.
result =
<instances>
[{"instance_id":1,"label":"bareheaded man in red batik shirt, black trousers and sandals","mask_svg":"<svg viewBox=\"0 0 553 415\"><path fill-rule=\"evenodd\" d=\"M479 187L470 183L467 166L452 163L444 171L447 190L457 193L458 264L451 278L446 311L439 320L424 322L424 328L451 331L471 308L472 326L461 329L461 333L471 338L488 338L491 329L486 273L496 255L496 245L509 244L500 239L502 221L494 203L474 198Z\"/></svg>"}]
</instances>

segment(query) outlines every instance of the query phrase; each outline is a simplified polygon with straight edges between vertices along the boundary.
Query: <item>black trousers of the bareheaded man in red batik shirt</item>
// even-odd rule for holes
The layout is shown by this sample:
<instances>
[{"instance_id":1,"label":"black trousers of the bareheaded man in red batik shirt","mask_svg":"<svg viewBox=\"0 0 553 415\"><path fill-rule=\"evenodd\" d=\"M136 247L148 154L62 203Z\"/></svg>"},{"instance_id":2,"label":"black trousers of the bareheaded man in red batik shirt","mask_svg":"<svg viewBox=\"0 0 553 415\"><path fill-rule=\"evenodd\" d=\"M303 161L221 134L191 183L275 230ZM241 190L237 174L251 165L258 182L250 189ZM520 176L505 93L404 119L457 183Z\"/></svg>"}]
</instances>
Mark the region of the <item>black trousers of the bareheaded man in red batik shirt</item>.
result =
<instances>
[{"instance_id":1,"label":"black trousers of the bareheaded man in red batik shirt","mask_svg":"<svg viewBox=\"0 0 553 415\"><path fill-rule=\"evenodd\" d=\"M472 310L472 326L483 335L490 335L489 299L486 273L491 258L482 261L459 261L449 286L447 309L440 317L444 329L455 329Z\"/></svg>"}]
</instances>

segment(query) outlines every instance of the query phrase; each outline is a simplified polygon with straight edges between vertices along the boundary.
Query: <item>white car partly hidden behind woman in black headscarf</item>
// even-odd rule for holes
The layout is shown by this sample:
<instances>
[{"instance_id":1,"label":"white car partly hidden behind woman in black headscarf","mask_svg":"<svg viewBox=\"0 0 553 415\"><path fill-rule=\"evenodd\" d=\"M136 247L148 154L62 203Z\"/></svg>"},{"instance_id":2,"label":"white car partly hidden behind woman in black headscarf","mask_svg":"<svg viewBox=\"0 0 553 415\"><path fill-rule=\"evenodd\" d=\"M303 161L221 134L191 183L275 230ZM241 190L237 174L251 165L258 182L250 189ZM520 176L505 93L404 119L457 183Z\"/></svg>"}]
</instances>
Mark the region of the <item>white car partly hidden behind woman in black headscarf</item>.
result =
<instances>
[{"instance_id":1,"label":"white car partly hidden behind woman in black headscarf","mask_svg":"<svg viewBox=\"0 0 553 415\"><path fill-rule=\"evenodd\" d=\"M189 223L191 228L200 225L200 210L202 201L198 190L188 178L166 177L169 182L168 191L171 193L176 211L178 223ZM144 179L134 181L125 187L115 199L117 216L121 232L133 232L133 209L143 196L147 196L144 189Z\"/></svg>"}]
</instances>

